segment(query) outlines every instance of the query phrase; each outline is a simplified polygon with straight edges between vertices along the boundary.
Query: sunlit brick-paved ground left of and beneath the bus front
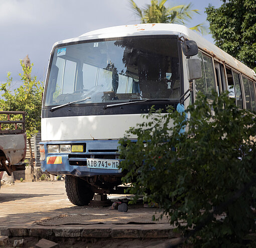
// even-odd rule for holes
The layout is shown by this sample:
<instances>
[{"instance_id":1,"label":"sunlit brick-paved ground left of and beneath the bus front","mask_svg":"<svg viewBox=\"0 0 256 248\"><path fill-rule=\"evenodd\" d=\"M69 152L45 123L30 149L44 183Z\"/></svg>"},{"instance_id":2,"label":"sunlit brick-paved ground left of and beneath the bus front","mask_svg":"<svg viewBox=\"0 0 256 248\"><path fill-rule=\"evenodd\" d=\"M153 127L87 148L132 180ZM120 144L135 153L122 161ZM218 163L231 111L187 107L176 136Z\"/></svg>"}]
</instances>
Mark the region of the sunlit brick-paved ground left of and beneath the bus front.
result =
<instances>
[{"instance_id":1,"label":"sunlit brick-paved ground left of and beneath the bus front","mask_svg":"<svg viewBox=\"0 0 256 248\"><path fill-rule=\"evenodd\" d=\"M118 198L123 199L124 196L111 194L108 195L108 198L117 200ZM94 214L94 223L97 222L97 218L102 219L104 216L108 216L108 219L112 216L112 223L116 223L114 216L118 216L120 219L129 218L128 222L142 223L144 219L148 219L146 222L151 222L152 215L158 211L156 208L144 208L142 202L129 205L127 212L110 210L108 206L101 204L76 206L69 201L66 195L64 180L16 181L14 185L3 185L0 190L0 207L1 226L27 226L40 219L69 214ZM133 219L134 216L136 219ZM109 221L111 222L111 219Z\"/></svg>"}]
</instances>

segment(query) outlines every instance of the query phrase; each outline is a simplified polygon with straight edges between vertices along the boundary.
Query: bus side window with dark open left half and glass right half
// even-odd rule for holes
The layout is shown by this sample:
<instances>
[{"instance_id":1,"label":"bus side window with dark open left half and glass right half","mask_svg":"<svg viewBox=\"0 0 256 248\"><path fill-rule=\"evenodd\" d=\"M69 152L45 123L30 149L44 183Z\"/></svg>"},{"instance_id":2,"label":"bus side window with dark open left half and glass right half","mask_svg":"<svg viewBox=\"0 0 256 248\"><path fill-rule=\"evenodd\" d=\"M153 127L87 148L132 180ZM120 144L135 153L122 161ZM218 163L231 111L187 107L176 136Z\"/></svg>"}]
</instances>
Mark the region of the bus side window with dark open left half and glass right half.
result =
<instances>
[{"instance_id":1,"label":"bus side window with dark open left half and glass right half","mask_svg":"<svg viewBox=\"0 0 256 248\"><path fill-rule=\"evenodd\" d=\"M229 97L234 98L236 106L243 108L242 90L239 74L226 68Z\"/></svg>"}]
</instances>

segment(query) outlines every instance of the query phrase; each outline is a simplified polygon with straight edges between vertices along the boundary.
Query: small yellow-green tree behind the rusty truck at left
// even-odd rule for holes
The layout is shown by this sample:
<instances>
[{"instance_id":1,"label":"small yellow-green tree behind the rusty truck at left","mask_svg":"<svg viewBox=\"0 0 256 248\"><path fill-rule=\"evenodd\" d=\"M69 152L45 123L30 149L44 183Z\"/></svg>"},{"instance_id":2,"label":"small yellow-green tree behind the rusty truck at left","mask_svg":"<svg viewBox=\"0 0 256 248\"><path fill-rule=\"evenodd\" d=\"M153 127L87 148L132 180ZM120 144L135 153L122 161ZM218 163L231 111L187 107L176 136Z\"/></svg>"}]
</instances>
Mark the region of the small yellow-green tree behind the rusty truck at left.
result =
<instances>
[{"instance_id":1,"label":"small yellow-green tree behind the rusty truck at left","mask_svg":"<svg viewBox=\"0 0 256 248\"><path fill-rule=\"evenodd\" d=\"M14 91L11 90L13 78L8 72L7 82L2 83L2 99L0 99L0 109L7 111L26 112L26 133L30 150L31 172L34 173L34 157L32 153L31 137L41 129L41 101L43 93L43 83L37 80L36 76L31 76L32 66L24 65L21 61L22 71L20 73L23 85Z\"/></svg>"}]
</instances>

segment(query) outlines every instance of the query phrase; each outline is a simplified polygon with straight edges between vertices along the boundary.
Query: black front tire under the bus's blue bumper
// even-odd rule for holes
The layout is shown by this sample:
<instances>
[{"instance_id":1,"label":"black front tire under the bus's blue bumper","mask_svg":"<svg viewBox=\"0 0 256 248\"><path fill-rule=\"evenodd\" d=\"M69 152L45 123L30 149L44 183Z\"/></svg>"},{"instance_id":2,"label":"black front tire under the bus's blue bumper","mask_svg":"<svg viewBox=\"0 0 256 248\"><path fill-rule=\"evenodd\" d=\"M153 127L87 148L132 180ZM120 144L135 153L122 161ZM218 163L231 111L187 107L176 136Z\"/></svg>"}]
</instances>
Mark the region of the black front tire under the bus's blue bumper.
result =
<instances>
[{"instance_id":1,"label":"black front tire under the bus's blue bumper","mask_svg":"<svg viewBox=\"0 0 256 248\"><path fill-rule=\"evenodd\" d=\"M77 176L66 175L65 187L67 196L74 205L88 205L93 198L94 192L91 185Z\"/></svg>"}]
</instances>

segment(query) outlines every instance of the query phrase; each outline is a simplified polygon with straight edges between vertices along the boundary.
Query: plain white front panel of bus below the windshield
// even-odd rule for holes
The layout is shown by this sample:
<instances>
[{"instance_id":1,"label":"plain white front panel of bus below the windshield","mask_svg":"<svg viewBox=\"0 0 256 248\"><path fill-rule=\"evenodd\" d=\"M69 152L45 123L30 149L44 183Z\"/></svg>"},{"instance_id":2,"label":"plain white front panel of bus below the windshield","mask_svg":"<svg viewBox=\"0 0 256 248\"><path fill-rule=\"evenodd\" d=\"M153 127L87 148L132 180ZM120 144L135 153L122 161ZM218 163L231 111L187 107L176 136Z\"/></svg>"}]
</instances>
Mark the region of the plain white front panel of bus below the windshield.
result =
<instances>
[{"instance_id":1,"label":"plain white front panel of bus below the windshield","mask_svg":"<svg viewBox=\"0 0 256 248\"><path fill-rule=\"evenodd\" d=\"M122 138L125 130L145 120L142 114L42 118L42 141Z\"/></svg>"}]
</instances>

